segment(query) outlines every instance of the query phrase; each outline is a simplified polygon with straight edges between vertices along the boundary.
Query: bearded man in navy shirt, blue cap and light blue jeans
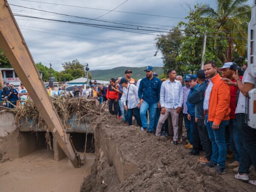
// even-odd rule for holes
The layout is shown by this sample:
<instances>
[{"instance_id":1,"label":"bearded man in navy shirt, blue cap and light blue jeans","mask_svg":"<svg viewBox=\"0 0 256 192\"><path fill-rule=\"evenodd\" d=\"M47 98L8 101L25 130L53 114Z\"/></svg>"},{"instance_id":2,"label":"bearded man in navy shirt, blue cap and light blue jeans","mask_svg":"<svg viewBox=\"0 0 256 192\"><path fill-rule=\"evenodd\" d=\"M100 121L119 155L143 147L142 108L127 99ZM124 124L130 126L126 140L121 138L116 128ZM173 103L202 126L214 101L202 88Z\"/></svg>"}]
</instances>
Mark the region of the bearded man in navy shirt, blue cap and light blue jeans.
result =
<instances>
[{"instance_id":1,"label":"bearded man in navy shirt, blue cap and light blue jeans","mask_svg":"<svg viewBox=\"0 0 256 192\"><path fill-rule=\"evenodd\" d=\"M160 89L161 80L153 76L154 69L148 66L145 70L146 77L140 81L138 96L140 98L140 119L142 127L147 129L149 133L154 131L154 122L157 107L160 108ZM149 108L149 127L146 118L146 111Z\"/></svg>"}]
</instances>

